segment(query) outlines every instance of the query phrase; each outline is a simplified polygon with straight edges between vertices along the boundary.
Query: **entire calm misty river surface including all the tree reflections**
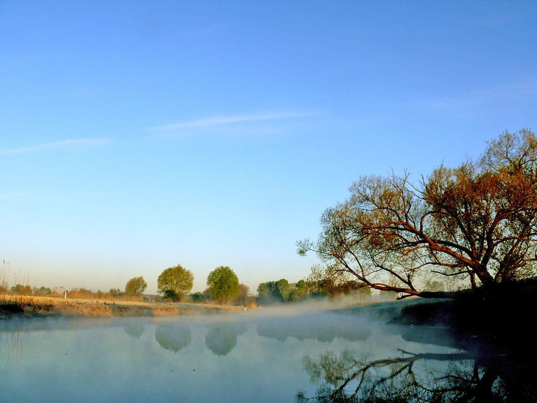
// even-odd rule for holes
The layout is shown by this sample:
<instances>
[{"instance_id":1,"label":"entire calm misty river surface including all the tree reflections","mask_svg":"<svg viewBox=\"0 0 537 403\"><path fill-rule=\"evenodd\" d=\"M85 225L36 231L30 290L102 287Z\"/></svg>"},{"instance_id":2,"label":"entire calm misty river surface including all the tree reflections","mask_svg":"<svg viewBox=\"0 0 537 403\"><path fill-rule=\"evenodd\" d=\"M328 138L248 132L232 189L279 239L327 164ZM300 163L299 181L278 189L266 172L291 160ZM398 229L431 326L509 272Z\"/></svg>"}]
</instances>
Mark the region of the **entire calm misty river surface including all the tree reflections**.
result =
<instances>
[{"instance_id":1,"label":"entire calm misty river surface including all the tree reflections","mask_svg":"<svg viewBox=\"0 0 537 403\"><path fill-rule=\"evenodd\" d=\"M449 374L467 377L469 390L485 378L441 328L259 311L0 322L0 401L365 401L403 392L427 401L419 392L445 389ZM489 389L502 387L496 379ZM452 401L461 392L442 393Z\"/></svg>"}]
</instances>

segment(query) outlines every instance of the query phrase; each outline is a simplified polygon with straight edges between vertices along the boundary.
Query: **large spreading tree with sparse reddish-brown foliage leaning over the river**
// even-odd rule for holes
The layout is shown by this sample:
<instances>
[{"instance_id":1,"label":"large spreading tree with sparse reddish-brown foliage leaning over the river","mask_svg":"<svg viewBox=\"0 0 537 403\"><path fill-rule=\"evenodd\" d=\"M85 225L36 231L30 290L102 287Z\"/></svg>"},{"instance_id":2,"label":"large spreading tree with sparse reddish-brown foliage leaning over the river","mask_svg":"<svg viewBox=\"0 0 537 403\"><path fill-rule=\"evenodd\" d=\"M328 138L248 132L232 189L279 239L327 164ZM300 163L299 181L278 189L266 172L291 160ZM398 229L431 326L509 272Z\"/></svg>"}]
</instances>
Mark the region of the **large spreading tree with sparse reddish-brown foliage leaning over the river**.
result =
<instances>
[{"instance_id":1,"label":"large spreading tree with sparse reddish-brown foliage leaning over the river","mask_svg":"<svg viewBox=\"0 0 537 403\"><path fill-rule=\"evenodd\" d=\"M474 289L533 275L537 140L523 129L487 146L477 161L440 165L416 184L408 172L360 177L322 215L318 241L297 243L325 262L311 278L427 298L451 296L423 289L431 275Z\"/></svg>"}]
</instances>

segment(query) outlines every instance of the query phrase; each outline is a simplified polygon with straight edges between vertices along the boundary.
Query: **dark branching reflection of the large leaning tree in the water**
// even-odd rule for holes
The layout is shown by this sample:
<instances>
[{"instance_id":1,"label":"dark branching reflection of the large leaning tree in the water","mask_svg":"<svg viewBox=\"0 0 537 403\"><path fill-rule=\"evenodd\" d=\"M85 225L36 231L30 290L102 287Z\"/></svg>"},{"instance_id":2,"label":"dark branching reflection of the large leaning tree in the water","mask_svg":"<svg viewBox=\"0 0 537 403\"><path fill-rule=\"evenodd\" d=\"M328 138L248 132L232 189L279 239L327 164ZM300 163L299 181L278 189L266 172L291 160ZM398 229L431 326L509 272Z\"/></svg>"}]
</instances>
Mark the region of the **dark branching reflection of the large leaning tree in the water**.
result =
<instances>
[{"instance_id":1,"label":"dark branching reflection of the large leaning tree in the water","mask_svg":"<svg viewBox=\"0 0 537 403\"><path fill-rule=\"evenodd\" d=\"M506 357L476 358L467 352L412 354L399 350L395 358L366 361L351 353L326 352L303 358L315 397L297 394L298 402L530 402L535 386L526 369L514 369ZM421 362L424 365L416 363ZM441 362L444 362L444 365ZM431 364L431 365L427 365ZM529 380L528 380L529 379Z\"/></svg>"}]
</instances>

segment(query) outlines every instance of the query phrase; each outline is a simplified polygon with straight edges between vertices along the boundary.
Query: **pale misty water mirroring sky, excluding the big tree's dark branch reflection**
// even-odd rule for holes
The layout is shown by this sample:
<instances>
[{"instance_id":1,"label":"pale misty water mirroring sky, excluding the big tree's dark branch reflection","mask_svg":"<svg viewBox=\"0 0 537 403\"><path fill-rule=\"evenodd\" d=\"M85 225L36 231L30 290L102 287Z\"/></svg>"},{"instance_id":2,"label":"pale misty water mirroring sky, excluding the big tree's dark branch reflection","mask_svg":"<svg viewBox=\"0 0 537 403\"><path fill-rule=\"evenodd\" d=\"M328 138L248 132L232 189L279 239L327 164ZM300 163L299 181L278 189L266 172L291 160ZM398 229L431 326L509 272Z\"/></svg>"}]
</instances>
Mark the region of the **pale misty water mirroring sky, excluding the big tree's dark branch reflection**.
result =
<instances>
[{"instance_id":1,"label":"pale misty water mirroring sky, excluding the big tree's dark branch reflection","mask_svg":"<svg viewBox=\"0 0 537 403\"><path fill-rule=\"evenodd\" d=\"M303 370L306 355L452 351L404 341L356 316L323 313L282 321L228 314L44 323L39 331L18 330L24 354L10 365L13 351L0 347L0 400L293 402L297 392L316 388ZM14 330L0 327L0 334L4 341Z\"/></svg>"}]
</instances>

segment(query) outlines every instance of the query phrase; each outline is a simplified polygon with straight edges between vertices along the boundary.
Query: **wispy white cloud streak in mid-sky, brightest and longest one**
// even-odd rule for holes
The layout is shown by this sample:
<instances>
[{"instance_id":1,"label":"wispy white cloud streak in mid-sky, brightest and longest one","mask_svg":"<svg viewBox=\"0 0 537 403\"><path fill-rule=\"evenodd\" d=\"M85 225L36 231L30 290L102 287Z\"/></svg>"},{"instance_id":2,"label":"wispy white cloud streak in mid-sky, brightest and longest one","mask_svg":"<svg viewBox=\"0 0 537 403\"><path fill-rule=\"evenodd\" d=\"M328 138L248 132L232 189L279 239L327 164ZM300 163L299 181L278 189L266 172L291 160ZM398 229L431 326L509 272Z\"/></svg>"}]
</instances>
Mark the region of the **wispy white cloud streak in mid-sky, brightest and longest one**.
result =
<instances>
[{"instance_id":1,"label":"wispy white cloud streak in mid-sky, brightest and longest one","mask_svg":"<svg viewBox=\"0 0 537 403\"><path fill-rule=\"evenodd\" d=\"M178 129L185 128L202 128L202 127L214 127L214 126L225 126L233 125L236 123L255 123L260 121L270 121L270 120L279 120L279 119L292 119L292 118L303 118L308 116L313 116L317 113L311 112L271 112L271 113L260 113L260 114L244 114L236 116L213 116L203 119L196 120L185 120L177 123L150 127L149 129L158 132L169 132L176 131Z\"/></svg>"}]
</instances>

